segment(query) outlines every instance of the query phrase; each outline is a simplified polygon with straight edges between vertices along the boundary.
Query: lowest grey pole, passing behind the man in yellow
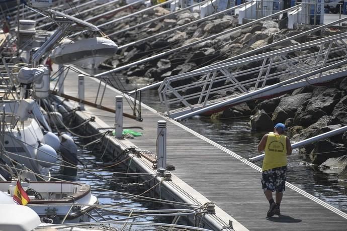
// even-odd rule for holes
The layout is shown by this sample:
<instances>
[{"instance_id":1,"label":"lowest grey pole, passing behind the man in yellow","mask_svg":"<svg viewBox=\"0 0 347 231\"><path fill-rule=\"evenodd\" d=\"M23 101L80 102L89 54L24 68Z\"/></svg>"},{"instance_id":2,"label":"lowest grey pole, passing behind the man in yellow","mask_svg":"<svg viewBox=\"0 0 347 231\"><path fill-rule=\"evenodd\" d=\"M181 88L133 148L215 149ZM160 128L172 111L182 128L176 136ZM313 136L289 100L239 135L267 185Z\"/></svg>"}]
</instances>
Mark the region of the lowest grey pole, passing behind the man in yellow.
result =
<instances>
[{"instance_id":1,"label":"lowest grey pole, passing behind the man in yellow","mask_svg":"<svg viewBox=\"0 0 347 231\"><path fill-rule=\"evenodd\" d=\"M300 148L302 146L305 146L305 145L311 144L313 142L320 141L320 140L323 140L325 138L329 138L329 137L341 134L341 133L346 132L346 131L347 131L347 126L344 126L344 127L339 128L339 129L335 129L335 130L332 130L332 131L308 138L306 140L299 141L297 143L292 144L291 146L292 146L292 149ZM264 156L265 156L265 154L261 154L261 155L249 158L248 160L250 162L257 162L259 160L263 160Z\"/></svg>"}]
</instances>

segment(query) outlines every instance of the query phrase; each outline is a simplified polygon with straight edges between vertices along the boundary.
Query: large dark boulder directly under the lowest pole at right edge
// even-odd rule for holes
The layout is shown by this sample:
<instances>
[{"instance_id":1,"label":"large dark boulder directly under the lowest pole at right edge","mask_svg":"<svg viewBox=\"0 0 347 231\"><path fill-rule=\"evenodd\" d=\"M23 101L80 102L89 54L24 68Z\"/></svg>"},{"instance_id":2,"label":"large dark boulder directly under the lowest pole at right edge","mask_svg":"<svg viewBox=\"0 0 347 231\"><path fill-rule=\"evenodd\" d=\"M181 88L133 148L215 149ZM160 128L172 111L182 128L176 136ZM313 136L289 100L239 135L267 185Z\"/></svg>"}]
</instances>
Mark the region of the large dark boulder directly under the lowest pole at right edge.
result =
<instances>
[{"instance_id":1,"label":"large dark boulder directly under the lowest pole at right edge","mask_svg":"<svg viewBox=\"0 0 347 231\"><path fill-rule=\"evenodd\" d=\"M327 140L318 141L312 152L310 159L313 164L320 165L332 157L341 157L347 155L347 150L341 144L335 144Z\"/></svg>"}]
</instances>

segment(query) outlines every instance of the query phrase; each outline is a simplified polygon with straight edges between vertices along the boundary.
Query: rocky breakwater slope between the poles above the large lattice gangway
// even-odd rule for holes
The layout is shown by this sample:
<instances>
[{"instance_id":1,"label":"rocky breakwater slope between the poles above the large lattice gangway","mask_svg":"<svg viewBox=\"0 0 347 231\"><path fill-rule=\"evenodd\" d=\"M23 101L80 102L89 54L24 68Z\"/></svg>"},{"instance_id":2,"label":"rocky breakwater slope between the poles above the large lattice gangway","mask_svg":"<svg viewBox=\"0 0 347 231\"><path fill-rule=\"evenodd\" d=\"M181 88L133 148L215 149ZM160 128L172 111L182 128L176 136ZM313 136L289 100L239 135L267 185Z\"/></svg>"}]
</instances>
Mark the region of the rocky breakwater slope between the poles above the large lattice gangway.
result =
<instances>
[{"instance_id":1,"label":"rocky breakwater slope between the poles above the large lattice gangway","mask_svg":"<svg viewBox=\"0 0 347 231\"><path fill-rule=\"evenodd\" d=\"M157 7L151 11L147 11L145 14L125 19L119 24L113 25L112 28L105 28L105 33L110 34L117 30L131 27L132 25L168 13L169 11L166 9ZM129 46L124 49L119 49L112 60L109 60L108 64L113 67L120 67L158 53L179 48L202 39L207 39L213 35L238 26L236 18L223 15L200 23L190 24L182 29L173 29L199 19L199 12L187 10L170 15L160 21L155 21L142 27L111 36L111 39L113 39L120 48L126 44L129 44ZM168 30L171 31L166 34L158 35L158 33L163 33ZM239 29L216 38L208 39L207 41L158 59L134 65L123 71L122 75L125 76L128 82L153 83L161 81L168 76L186 73L243 54L297 33L299 32L288 29L280 30L276 22L266 21L257 23L248 28ZM143 40L151 36L153 36L151 39L133 45L131 44L132 42ZM276 49L295 44L297 44L296 41L287 42L286 44L276 47Z\"/></svg>"}]
</instances>

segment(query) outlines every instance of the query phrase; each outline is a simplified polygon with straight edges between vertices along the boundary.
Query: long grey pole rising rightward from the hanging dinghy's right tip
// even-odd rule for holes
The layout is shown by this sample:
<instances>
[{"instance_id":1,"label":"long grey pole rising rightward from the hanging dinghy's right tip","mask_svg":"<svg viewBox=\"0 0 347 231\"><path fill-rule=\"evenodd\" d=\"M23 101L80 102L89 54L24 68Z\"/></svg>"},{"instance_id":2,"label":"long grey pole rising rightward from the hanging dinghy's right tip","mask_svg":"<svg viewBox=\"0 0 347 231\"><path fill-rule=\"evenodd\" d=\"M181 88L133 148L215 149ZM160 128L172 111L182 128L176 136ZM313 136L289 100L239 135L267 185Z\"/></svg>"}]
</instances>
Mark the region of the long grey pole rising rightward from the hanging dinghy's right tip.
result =
<instances>
[{"instance_id":1,"label":"long grey pole rising rightward from the hanging dinghy's right tip","mask_svg":"<svg viewBox=\"0 0 347 231\"><path fill-rule=\"evenodd\" d=\"M140 39L140 40L136 40L136 41L134 41L134 42L130 42L130 43L128 43L128 44L119 46L119 47L118 47L118 50L122 50L122 49L127 48L127 47L130 47L130 46L135 46L135 45L137 45L137 44L140 44L140 43L143 43L143 42L145 42L145 41L151 40L151 39L153 39L153 38L157 38L158 36L162 36L162 35L168 34L168 33L172 32L172 31L177 31L177 30L180 30L180 29L189 27L189 26L191 26L191 25L194 25L194 24L198 24L198 23L207 21L207 20L209 20L209 19L211 19L211 18L215 18L215 17L217 17L217 16L219 16L219 15L223 15L223 14L229 12L229 11L234 11L234 10L237 9L237 8L241 8L241 7L243 7L244 5L245 5L245 3L243 3L243 4L241 4L241 5L237 5L237 6L235 6L235 7L229 8L229 9L226 9L226 10L224 10L224 11L221 11L221 12L218 12L218 13L215 13L215 14L212 14L212 15L209 15L209 16L206 16L206 17L204 17L204 18L202 18L202 19L198 19L198 20L195 20L195 21L193 21L193 22L190 22L190 23L187 23L187 24L184 24L184 25L175 27L175 28L171 28L171 29L166 30L166 31L159 32L159 33L157 33L157 34L155 34L155 35L148 36L148 37L146 37L146 38L143 38L143 39Z\"/></svg>"}]
</instances>

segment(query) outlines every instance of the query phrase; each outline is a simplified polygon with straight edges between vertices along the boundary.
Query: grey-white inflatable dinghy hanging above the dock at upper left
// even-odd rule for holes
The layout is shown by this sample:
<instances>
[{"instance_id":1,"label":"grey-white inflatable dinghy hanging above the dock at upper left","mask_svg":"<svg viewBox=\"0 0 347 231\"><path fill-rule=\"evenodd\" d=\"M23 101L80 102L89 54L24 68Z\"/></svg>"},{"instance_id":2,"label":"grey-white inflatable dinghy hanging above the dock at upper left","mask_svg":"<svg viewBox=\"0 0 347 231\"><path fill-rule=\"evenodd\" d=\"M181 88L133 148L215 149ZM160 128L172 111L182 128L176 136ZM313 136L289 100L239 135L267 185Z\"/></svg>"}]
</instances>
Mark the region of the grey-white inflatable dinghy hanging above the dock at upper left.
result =
<instances>
[{"instance_id":1,"label":"grey-white inflatable dinghy hanging above the dock at upper left","mask_svg":"<svg viewBox=\"0 0 347 231\"><path fill-rule=\"evenodd\" d=\"M94 69L117 51L117 45L110 39L96 37L71 41L64 39L52 50L51 60L56 64L74 64Z\"/></svg>"}]
</instances>

